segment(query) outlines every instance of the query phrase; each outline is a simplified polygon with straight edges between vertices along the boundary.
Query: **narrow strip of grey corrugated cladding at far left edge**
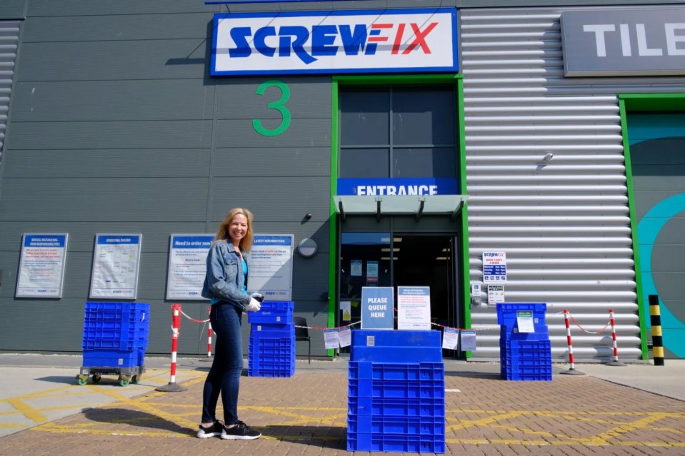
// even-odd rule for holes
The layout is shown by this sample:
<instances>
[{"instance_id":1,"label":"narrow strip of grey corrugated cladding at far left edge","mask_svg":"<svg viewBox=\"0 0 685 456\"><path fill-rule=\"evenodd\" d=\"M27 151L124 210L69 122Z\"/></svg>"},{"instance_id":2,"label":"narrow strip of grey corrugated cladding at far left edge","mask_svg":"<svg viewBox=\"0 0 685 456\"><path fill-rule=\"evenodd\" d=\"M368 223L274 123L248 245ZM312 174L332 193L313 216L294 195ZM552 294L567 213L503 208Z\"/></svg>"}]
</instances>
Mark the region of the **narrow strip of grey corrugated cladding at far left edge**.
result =
<instances>
[{"instance_id":1,"label":"narrow strip of grey corrugated cladding at far left edge","mask_svg":"<svg viewBox=\"0 0 685 456\"><path fill-rule=\"evenodd\" d=\"M0 163L14 78L16 46L19 44L19 24L21 21L0 21Z\"/></svg>"}]
</instances>

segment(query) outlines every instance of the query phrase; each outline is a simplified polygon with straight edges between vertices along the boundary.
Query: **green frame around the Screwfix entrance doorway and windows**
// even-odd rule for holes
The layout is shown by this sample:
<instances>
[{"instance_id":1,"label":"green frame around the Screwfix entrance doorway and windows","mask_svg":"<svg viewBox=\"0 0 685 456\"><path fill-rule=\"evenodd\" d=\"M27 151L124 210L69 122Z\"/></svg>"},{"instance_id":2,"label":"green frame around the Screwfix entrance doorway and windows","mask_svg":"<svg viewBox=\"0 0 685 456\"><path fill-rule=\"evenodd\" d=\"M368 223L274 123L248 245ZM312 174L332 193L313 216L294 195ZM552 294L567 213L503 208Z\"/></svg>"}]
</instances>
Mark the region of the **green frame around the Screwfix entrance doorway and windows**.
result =
<instances>
[{"instance_id":1,"label":"green frame around the Screwfix entrance doorway and windows","mask_svg":"<svg viewBox=\"0 0 685 456\"><path fill-rule=\"evenodd\" d=\"M429 86L435 84L453 84L456 88L457 96L457 110L456 122L457 131L459 131L459 190L462 195L466 195L466 145L465 145L465 131L464 131L464 84L461 74L431 74L431 75L384 75L384 76L334 76L332 80L332 100L331 100L331 207L329 210L329 318L328 327L333 328L335 325L336 316L336 264L337 258L337 221L336 208L333 201L333 196L338 192L338 132L340 128L339 123L339 106L338 97L340 86L399 86L399 85L419 85ZM462 286L464 290L464 303L468 298L467 291L470 289L469 284L469 203L464 201L464 207L461 209L461 263L464 266L462 270ZM471 307L464 305L464 326L471 327ZM333 350L327 350L329 356L333 356ZM467 357L470 353L467 353Z\"/></svg>"}]
</instances>

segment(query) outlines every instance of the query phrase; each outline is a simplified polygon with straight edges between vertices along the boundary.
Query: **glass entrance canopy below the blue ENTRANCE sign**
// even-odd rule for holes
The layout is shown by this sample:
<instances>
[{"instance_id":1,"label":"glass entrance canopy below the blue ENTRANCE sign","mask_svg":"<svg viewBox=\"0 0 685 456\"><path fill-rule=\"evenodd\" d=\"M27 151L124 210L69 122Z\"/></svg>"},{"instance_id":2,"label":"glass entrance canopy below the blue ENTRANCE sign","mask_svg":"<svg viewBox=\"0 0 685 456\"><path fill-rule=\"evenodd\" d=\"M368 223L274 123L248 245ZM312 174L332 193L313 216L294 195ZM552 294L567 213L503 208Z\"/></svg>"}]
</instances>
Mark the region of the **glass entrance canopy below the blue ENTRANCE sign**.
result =
<instances>
[{"instance_id":1,"label":"glass entrance canopy below the blue ENTRANCE sign","mask_svg":"<svg viewBox=\"0 0 685 456\"><path fill-rule=\"evenodd\" d=\"M464 207L466 195L336 195L336 212L342 220L348 215L416 216L449 215L456 218Z\"/></svg>"}]
</instances>

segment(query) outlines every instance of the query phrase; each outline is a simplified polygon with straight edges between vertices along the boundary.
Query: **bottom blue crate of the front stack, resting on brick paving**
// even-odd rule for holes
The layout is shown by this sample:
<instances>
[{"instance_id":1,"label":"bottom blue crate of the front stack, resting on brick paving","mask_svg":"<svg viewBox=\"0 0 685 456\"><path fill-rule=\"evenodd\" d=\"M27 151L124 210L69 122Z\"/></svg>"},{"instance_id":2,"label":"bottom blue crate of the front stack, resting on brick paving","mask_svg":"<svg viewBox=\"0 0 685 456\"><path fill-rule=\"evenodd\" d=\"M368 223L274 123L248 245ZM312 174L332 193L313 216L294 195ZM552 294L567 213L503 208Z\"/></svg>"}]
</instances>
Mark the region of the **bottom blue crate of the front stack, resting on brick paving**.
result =
<instances>
[{"instance_id":1,"label":"bottom blue crate of the front stack, resting on brick paving","mask_svg":"<svg viewBox=\"0 0 685 456\"><path fill-rule=\"evenodd\" d=\"M445 437L406 434L347 433L348 451L444 453Z\"/></svg>"}]
</instances>

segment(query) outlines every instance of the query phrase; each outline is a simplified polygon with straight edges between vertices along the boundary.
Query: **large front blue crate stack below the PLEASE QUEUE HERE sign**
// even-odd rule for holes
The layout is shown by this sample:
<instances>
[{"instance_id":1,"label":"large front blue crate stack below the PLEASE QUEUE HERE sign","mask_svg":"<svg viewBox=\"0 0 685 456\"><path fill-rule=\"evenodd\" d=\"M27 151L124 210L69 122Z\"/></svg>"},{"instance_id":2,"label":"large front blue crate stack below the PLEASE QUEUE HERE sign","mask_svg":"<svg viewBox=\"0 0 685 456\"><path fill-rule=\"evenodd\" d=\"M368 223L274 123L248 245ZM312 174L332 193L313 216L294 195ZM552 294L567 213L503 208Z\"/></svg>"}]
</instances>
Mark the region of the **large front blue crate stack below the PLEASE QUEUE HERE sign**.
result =
<instances>
[{"instance_id":1,"label":"large front blue crate stack below the PLEASE QUEUE HERE sign","mask_svg":"<svg viewBox=\"0 0 685 456\"><path fill-rule=\"evenodd\" d=\"M353 330L348 373L348 451L445 452L438 331Z\"/></svg>"}]
</instances>

